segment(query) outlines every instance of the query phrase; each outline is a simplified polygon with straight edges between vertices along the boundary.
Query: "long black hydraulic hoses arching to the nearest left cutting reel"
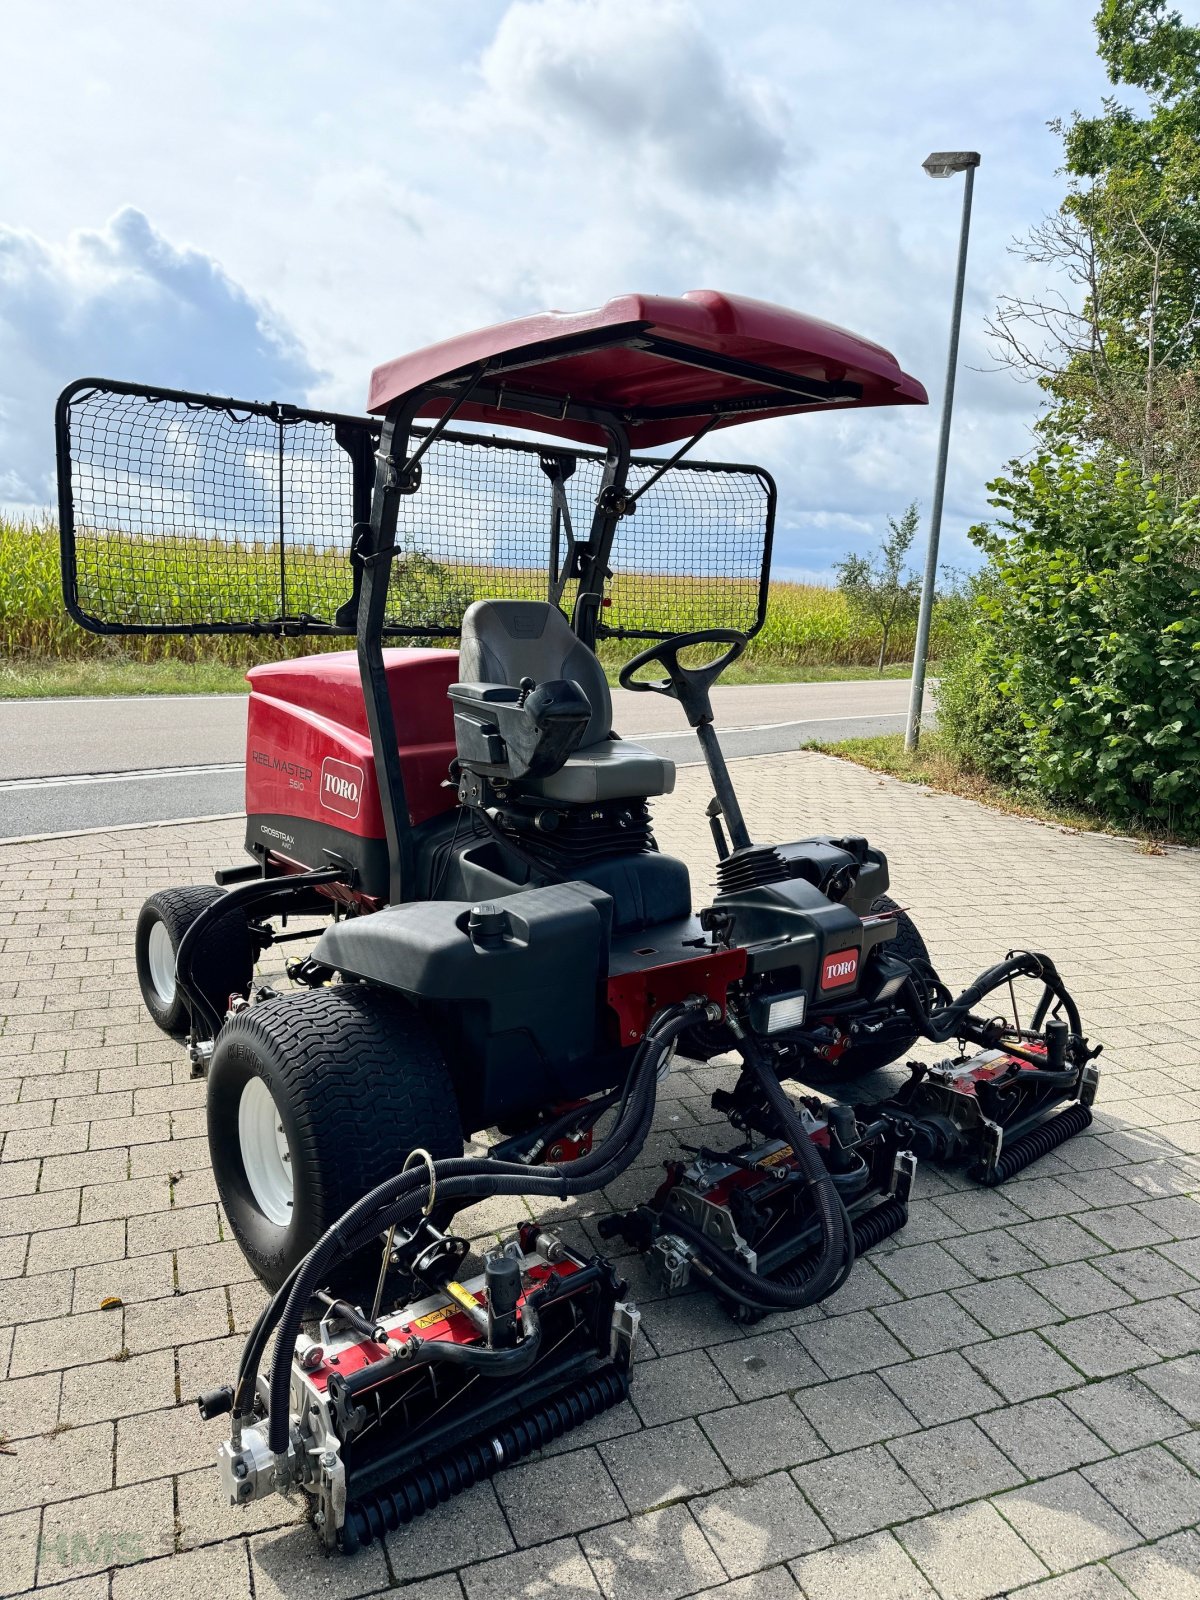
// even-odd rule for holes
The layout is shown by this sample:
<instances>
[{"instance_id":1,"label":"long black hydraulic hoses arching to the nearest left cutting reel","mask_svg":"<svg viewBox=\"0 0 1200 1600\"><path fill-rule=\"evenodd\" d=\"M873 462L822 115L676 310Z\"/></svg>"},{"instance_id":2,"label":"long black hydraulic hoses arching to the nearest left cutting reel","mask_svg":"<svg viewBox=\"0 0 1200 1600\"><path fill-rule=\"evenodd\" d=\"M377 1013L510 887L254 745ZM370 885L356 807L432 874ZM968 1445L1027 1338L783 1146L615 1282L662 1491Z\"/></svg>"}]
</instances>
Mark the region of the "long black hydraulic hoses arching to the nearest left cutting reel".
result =
<instances>
[{"instance_id":1,"label":"long black hydraulic hoses arching to the nearest left cutting reel","mask_svg":"<svg viewBox=\"0 0 1200 1600\"><path fill-rule=\"evenodd\" d=\"M560 1166L534 1171L520 1163L485 1158L437 1162L437 1189L445 1200L486 1200L494 1195L550 1195L570 1198L603 1189L637 1158L654 1117L656 1074L662 1054L706 1006L702 998L664 1008L650 1024L630 1070L632 1091L608 1138L589 1155ZM789 1102L790 1109L790 1102ZM805 1141L808 1142L808 1141ZM278 1328L275 1358L270 1366L269 1443L282 1456L288 1448L288 1389L291 1382L291 1350L296 1344L307 1302L330 1266L370 1243L392 1226L414 1219L426 1205L429 1174L424 1168L400 1173L363 1195L314 1245L290 1277L286 1296L277 1293L264 1315L261 1338ZM253 1395L258 1362L246 1362L240 1389Z\"/></svg>"}]
</instances>

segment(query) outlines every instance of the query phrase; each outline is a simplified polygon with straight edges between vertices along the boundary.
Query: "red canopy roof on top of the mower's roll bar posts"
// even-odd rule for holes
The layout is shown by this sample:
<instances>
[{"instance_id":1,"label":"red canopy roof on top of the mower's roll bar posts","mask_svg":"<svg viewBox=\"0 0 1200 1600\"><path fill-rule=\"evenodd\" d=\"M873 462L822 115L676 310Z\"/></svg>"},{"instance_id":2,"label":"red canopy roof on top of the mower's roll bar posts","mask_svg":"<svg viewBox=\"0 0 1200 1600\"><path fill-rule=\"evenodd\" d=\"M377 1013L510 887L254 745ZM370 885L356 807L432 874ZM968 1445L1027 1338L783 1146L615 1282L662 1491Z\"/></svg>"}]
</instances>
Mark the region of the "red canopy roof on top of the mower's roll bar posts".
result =
<instances>
[{"instance_id":1,"label":"red canopy roof on top of the mower's roll bar posts","mask_svg":"<svg viewBox=\"0 0 1200 1600\"><path fill-rule=\"evenodd\" d=\"M430 387L440 416L474 382L456 421L606 443L589 411L616 413L635 448L760 416L925 405L882 346L766 301L691 290L682 299L621 294L597 310L541 312L462 333L371 374L370 411Z\"/></svg>"}]
</instances>

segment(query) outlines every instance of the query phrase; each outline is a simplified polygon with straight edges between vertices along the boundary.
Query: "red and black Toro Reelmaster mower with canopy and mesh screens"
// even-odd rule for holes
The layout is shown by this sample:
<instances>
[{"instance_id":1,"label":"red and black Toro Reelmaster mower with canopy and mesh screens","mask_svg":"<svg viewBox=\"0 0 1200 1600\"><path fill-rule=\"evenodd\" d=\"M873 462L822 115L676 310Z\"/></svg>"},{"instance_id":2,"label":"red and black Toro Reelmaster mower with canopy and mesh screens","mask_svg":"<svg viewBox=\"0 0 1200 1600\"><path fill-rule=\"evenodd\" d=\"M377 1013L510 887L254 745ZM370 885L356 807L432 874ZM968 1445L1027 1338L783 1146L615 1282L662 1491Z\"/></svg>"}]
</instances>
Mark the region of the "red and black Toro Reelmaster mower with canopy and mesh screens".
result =
<instances>
[{"instance_id":1,"label":"red and black Toro Reelmaster mower with canopy and mesh screens","mask_svg":"<svg viewBox=\"0 0 1200 1600\"><path fill-rule=\"evenodd\" d=\"M714 1098L736 1136L602 1235L739 1317L830 1294L904 1222L914 1150L990 1182L1088 1122L1091 1053L1050 958L954 998L866 838L750 838L712 725L710 685L763 622L774 485L685 453L752 418L923 402L878 346L715 293L402 357L368 418L62 395L78 622L357 640L250 672L251 859L138 923L146 1003L208 1075L224 1210L272 1293L232 1387L202 1397L232 1413L235 1502L299 1486L352 1549L627 1394L638 1314L613 1266L528 1226L461 1282L453 1221L611 1182L675 1048L741 1061ZM696 731L710 896L654 843L675 771L613 730L605 638L650 640L621 683ZM291 987L256 984L314 915ZM989 1011L1018 978L1040 997L1024 1027ZM958 1056L885 1106L784 1090L853 1085L918 1038Z\"/></svg>"}]
</instances>

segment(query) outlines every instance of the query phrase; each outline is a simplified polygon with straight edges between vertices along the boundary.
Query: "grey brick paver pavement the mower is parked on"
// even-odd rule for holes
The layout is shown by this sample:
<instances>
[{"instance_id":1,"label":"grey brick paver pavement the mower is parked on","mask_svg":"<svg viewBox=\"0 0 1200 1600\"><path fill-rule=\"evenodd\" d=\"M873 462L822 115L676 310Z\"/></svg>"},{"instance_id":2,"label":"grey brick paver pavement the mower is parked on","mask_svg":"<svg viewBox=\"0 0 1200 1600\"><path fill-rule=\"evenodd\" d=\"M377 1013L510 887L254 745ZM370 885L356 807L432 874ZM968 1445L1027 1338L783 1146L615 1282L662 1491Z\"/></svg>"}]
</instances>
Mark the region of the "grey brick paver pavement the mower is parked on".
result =
<instances>
[{"instance_id":1,"label":"grey brick paver pavement the mower is parked on","mask_svg":"<svg viewBox=\"0 0 1200 1600\"><path fill-rule=\"evenodd\" d=\"M907 1230L834 1301L750 1330L656 1298L630 1261L634 1403L355 1560L325 1562L299 1506L222 1506L221 1424L192 1405L261 1294L131 934L147 893L237 859L238 829L0 846L0 1595L1200 1595L1200 856L819 755L736 778L758 837L882 845L952 982L1050 950L1107 1046L1096 1125L1000 1194L925 1170ZM658 805L698 898L702 800L691 770ZM672 1072L611 1203L712 1122L728 1077ZM482 1213L478 1234L520 1208Z\"/></svg>"}]
</instances>

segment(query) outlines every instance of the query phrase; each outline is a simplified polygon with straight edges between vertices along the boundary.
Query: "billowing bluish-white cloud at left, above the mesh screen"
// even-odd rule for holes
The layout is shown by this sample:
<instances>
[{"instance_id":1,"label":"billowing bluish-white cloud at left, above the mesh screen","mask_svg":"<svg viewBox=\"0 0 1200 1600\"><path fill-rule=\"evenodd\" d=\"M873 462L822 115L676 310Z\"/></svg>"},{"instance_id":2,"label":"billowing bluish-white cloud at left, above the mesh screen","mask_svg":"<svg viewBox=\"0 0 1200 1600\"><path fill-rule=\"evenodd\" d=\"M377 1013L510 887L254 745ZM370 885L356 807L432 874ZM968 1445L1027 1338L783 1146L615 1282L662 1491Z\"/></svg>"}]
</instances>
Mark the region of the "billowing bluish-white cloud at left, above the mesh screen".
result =
<instances>
[{"instance_id":1,"label":"billowing bluish-white cloud at left, above the mesh screen","mask_svg":"<svg viewBox=\"0 0 1200 1600\"><path fill-rule=\"evenodd\" d=\"M211 256L126 206L62 245L0 227L0 504L53 502L54 397L72 378L298 400L320 373Z\"/></svg>"}]
</instances>

